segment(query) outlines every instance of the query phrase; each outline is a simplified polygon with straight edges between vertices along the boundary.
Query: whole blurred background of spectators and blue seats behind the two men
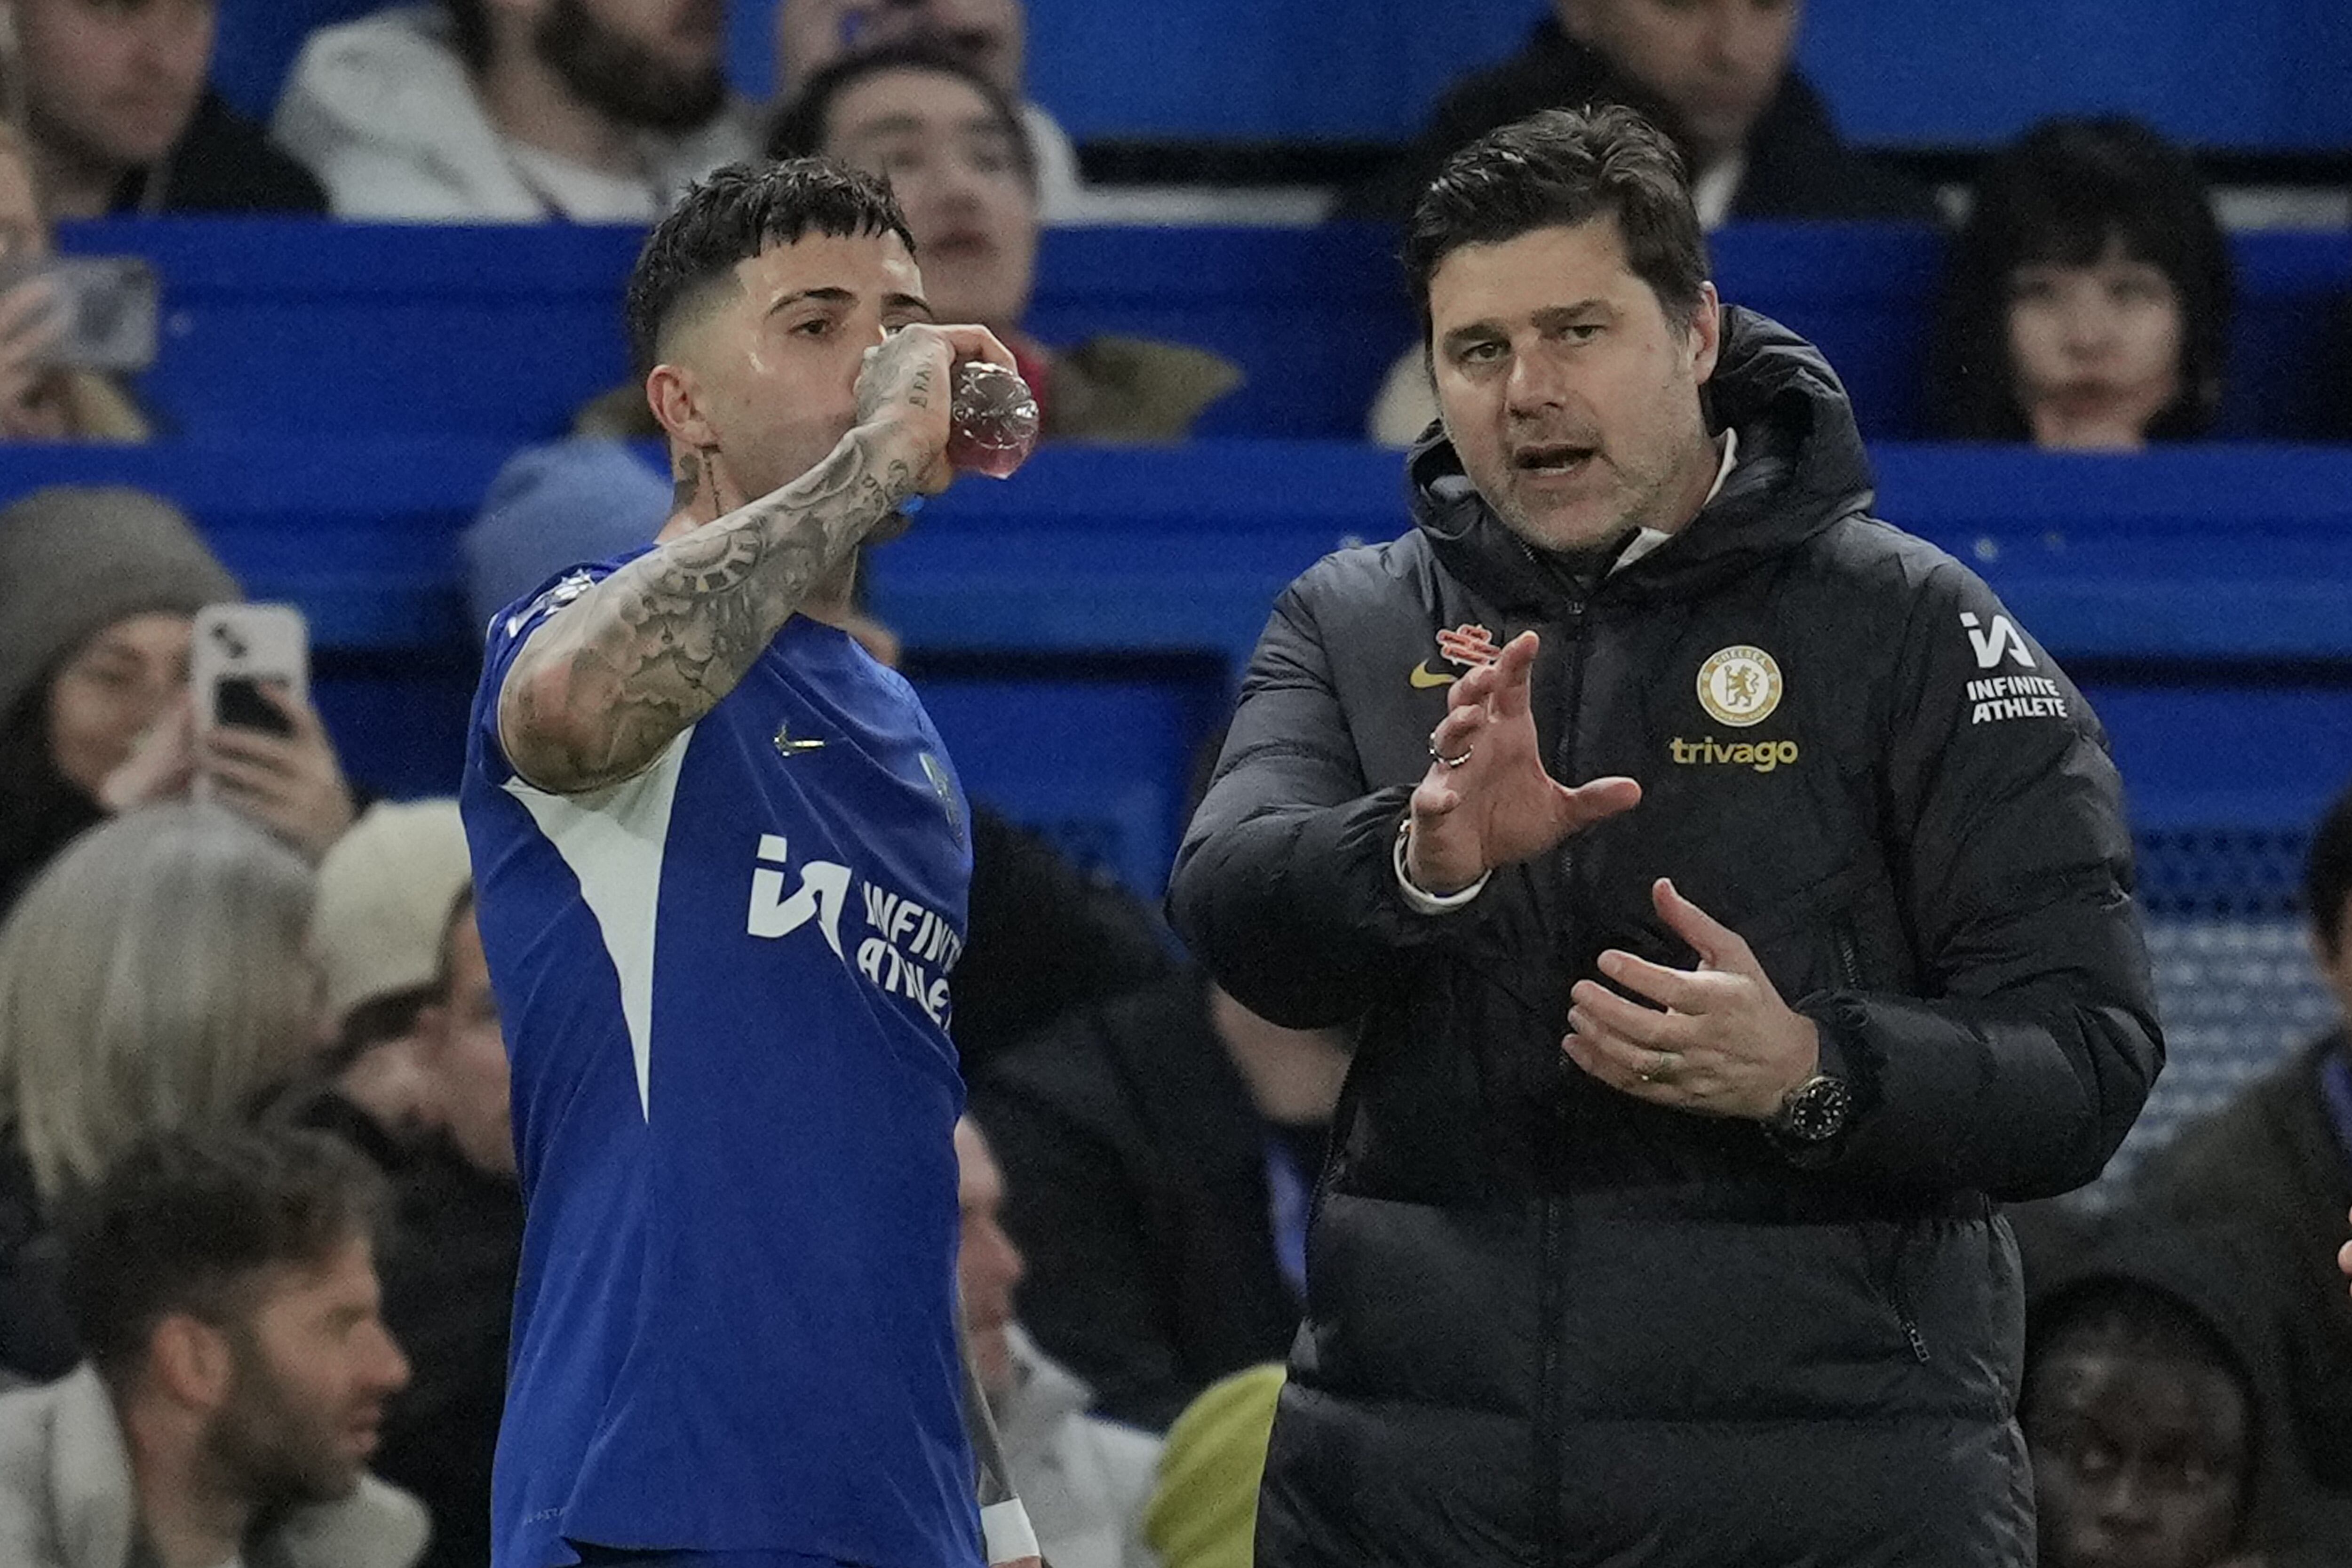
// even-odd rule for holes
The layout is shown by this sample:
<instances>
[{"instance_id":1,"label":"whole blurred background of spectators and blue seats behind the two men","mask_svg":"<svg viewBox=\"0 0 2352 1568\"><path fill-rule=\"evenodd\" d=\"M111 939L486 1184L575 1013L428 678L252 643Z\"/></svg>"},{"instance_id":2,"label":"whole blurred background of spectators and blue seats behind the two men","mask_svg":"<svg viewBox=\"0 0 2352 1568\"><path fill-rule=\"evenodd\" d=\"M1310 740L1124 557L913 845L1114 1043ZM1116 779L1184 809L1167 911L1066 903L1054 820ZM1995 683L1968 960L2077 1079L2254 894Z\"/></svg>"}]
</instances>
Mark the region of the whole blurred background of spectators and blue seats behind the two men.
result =
<instances>
[{"instance_id":1,"label":"whole blurred background of spectators and blue seats behind the two men","mask_svg":"<svg viewBox=\"0 0 2352 1568\"><path fill-rule=\"evenodd\" d=\"M2345 80L2340 0L0 0L0 1556L209 1568L202 1519L303 1502L266 1561L487 1563L480 628L668 512L644 226L826 153L1049 442L877 557L866 635L976 797L983 1382L1054 1563L1247 1563L1350 1039L1216 990L1160 889L1272 595L1404 527L1414 193L1618 101L2133 795L2171 1065L2013 1215L2044 1563L2352 1563ZM303 679L212 724L245 599Z\"/></svg>"}]
</instances>

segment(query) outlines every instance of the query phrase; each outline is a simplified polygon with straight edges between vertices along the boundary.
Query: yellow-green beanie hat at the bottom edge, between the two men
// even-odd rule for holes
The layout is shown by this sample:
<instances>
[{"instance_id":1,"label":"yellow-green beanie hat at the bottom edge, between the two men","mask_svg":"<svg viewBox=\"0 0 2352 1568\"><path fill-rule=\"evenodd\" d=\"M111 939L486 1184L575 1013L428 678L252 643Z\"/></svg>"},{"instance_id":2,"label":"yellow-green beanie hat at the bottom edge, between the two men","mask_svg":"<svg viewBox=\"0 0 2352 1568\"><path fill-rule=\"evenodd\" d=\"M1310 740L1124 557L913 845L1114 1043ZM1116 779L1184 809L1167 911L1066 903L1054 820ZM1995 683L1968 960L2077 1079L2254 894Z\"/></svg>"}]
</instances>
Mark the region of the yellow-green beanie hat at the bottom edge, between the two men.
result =
<instances>
[{"instance_id":1,"label":"yellow-green beanie hat at the bottom edge, between the two men","mask_svg":"<svg viewBox=\"0 0 2352 1568\"><path fill-rule=\"evenodd\" d=\"M1202 1389L1169 1427L1143 1535L1167 1568L1251 1568L1258 1481L1284 1368L1251 1366Z\"/></svg>"}]
</instances>

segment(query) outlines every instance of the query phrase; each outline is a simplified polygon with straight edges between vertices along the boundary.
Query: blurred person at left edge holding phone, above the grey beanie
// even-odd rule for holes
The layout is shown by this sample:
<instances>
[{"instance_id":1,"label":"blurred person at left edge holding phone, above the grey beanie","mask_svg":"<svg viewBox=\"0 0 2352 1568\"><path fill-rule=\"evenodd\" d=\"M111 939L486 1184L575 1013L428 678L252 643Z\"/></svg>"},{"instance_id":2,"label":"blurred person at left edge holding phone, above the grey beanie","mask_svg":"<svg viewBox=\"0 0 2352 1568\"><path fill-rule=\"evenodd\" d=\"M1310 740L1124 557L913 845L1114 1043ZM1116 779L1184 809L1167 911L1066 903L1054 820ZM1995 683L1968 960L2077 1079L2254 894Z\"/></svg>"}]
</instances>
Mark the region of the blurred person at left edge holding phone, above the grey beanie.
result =
<instances>
[{"instance_id":1,"label":"blurred person at left edge holding phone, above the grey beanie","mask_svg":"<svg viewBox=\"0 0 2352 1568\"><path fill-rule=\"evenodd\" d=\"M0 440L143 442L148 421L115 381L49 362L64 320L56 296L26 273L49 259L49 219L33 190L24 139L0 122Z\"/></svg>"}]
</instances>

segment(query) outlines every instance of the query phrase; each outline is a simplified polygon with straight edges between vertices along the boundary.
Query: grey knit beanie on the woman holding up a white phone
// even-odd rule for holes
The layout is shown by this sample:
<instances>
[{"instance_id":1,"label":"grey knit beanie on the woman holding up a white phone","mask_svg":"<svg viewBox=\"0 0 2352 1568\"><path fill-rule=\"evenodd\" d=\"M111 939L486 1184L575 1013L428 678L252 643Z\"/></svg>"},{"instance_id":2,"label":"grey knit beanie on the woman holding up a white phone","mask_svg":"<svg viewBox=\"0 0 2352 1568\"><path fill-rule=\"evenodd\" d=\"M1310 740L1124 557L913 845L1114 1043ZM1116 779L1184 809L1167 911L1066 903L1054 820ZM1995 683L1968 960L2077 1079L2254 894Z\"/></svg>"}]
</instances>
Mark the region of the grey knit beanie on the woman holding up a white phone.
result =
<instances>
[{"instance_id":1,"label":"grey knit beanie on the woman holding up a white phone","mask_svg":"<svg viewBox=\"0 0 2352 1568\"><path fill-rule=\"evenodd\" d=\"M0 715L127 616L242 599L186 512L122 484L52 484L0 510Z\"/></svg>"}]
</instances>

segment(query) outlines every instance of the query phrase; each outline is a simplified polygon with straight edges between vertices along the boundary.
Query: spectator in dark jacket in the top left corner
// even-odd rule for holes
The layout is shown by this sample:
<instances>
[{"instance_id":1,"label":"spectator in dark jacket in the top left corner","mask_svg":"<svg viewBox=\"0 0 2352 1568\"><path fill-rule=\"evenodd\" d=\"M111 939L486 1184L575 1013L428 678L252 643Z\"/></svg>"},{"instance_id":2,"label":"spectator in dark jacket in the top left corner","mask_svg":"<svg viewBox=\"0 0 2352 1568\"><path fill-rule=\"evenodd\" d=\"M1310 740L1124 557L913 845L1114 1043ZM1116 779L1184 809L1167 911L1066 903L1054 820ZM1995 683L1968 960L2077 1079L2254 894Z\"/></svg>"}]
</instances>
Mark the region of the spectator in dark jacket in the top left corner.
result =
<instances>
[{"instance_id":1,"label":"spectator in dark jacket in the top left corner","mask_svg":"<svg viewBox=\"0 0 2352 1568\"><path fill-rule=\"evenodd\" d=\"M33 167L56 219L327 212L327 193L205 85L214 0L12 0Z\"/></svg>"}]
</instances>

